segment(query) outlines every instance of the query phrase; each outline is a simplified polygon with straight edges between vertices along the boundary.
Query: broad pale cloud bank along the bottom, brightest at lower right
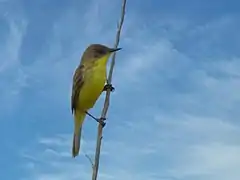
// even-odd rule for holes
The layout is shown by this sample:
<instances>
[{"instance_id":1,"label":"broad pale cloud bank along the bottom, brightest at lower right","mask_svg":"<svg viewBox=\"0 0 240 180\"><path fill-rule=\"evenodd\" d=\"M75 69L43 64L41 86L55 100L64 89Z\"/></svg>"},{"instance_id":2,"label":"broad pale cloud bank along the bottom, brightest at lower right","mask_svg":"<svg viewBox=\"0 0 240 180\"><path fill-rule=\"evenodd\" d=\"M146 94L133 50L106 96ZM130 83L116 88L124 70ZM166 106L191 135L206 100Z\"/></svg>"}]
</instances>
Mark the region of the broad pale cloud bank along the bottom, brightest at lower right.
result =
<instances>
[{"instance_id":1,"label":"broad pale cloud bank along the bottom, brightest at lower right","mask_svg":"<svg viewBox=\"0 0 240 180\"><path fill-rule=\"evenodd\" d=\"M106 153L101 157L99 179L154 179L153 174L155 177L186 179L196 176L212 179L235 173L231 175L234 179L240 175L237 172L240 162L238 126L219 119L176 116L178 119L155 114L155 118L150 115L148 119L141 119L139 114L139 118L133 119L131 124L111 127L112 137L105 135L103 139L102 150ZM196 141L198 138L200 141ZM70 151L71 139L68 139L69 144L65 140L59 143L61 138L58 136L54 139L45 138L45 144L40 146L45 150L31 153L31 156L47 164L47 167L38 166L37 160L30 160L36 167L36 171L30 171L33 173L31 179L41 179L43 176L70 180L89 178L90 163L83 155L71 159L63 154ZM229 139L235 139L235 142L229 142ZM89 142L94 144L94 141ZM86 141L86 145L89 142ZM54 147L54 150L50 147ZM36 150L36 147L32 148ZM94 146L91 148L94 149ZM170 164L167 168L158 165L159 162ZM48 173L49 170L51 173Z\"/></svg>"}]
</instances>

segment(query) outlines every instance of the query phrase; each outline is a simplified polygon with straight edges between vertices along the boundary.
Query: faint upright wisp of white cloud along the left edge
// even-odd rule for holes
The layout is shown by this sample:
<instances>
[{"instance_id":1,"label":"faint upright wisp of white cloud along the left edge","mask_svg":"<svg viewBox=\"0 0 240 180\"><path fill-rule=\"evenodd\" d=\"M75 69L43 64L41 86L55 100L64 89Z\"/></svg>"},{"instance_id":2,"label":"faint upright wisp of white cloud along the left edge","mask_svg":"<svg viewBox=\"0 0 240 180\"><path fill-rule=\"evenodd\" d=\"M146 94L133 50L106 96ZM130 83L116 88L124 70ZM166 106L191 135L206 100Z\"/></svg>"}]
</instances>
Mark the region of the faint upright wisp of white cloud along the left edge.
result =
<instances>
[{"instance_id":1,"label":"faint upright wisp of white cloud along the left edge","mask_svg":"<svg viewBox=\"0 0 240 180\"><path fill-rule=\"evenodd\" d=\"M0 99L4 104L4 106L1 105L1 111L10 111L18 103L18 94L21 89L28 85L28 76L22 69L19 59L27 22L24 19L15 21L10 16L6 16L5 20L9 33L0 47Z\"/></svg>"}]
</instances>

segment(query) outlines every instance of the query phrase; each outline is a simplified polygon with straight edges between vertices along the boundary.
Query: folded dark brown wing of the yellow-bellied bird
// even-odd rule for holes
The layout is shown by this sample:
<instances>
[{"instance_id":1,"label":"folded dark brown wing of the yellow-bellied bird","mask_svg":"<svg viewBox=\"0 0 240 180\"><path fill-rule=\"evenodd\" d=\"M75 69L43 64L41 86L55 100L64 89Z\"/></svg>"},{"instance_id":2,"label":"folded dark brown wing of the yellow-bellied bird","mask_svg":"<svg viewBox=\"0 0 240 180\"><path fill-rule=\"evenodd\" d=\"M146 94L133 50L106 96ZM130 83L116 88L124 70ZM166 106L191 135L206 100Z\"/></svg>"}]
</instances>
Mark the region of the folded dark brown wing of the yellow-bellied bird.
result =
<instances>
[{"instance_id":1,"label":"folded dark brown wing of the yellow-bellied bird","mask_svg":"<svg viewBox=\"0 0 240 180\"><path fill-rule=\"evenodd\" d=\"M72 100L71 100L71 109L72 113L74 110L76 110L79 93L81 91L81 88L84 83L84 66L80 65L75 70L74 76L73 76L73 86L72 86Z\"/></svg>"}]
</instances>

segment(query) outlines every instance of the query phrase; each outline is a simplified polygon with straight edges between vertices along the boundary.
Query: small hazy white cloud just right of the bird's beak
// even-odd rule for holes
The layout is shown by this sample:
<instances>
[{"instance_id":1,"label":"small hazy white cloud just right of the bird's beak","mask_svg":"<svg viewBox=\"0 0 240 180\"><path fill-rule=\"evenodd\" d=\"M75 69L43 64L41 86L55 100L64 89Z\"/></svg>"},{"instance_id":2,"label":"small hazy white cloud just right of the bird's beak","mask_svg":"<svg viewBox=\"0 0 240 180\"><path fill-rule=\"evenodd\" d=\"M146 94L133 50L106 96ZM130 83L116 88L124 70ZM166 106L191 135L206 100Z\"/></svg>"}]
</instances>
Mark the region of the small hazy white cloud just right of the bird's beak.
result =
<instances>
[{"instance_id":1,"label":"small hazy white cloud just right of the bird's beak","mask_svg":"<svg viewBox=\"0 0 240 180\"><path fill-rule=\"evenodd\" d=\"M164 65L170 63L169 61L174 56L172 44L167 40L156 40L156 42L142 46L138 51L125 57L125 64L118 74L121 79L139 81L151 69L164 68Z\"/></svg>"}]
</instances>

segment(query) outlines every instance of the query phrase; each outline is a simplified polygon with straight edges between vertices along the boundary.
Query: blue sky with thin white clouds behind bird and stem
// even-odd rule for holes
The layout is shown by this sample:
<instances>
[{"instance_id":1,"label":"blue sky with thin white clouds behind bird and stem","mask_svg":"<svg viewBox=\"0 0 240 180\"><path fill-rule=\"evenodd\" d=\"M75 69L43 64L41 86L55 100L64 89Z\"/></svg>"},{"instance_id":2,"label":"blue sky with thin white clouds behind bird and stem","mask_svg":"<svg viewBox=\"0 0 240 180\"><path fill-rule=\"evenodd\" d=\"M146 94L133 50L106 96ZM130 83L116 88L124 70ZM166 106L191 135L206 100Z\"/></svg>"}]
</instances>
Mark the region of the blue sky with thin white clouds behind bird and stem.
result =
<instances>
[{"instance_id":1,"label":"blue sky with thin white clouds behind bird and stem","mask_svg":"<svg viewBox=\"0 0 240 180\"><path fill-rule=\"evenodd\" d=\"M121 3L0 0L3 179L90 179L97 124L71 158L72 75L86 46L114 44ZM99 180L238 180L239 5L127 3Z\"/></svg>"}]
</instances>

